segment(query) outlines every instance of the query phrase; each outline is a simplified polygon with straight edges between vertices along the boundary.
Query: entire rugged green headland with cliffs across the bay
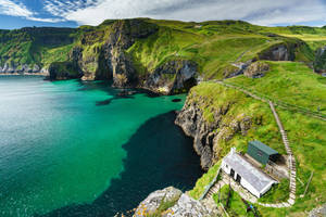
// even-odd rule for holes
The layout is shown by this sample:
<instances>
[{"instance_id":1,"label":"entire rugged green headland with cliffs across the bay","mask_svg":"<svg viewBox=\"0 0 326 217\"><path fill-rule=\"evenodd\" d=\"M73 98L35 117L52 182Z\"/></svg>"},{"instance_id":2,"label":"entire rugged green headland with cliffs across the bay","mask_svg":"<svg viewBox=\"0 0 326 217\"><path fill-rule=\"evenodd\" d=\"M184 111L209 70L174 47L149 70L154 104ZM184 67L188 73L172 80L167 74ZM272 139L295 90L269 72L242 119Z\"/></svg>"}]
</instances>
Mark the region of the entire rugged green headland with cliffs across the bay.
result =
<instances>
[{"instance_id":1,"label":"entire rugged green headland with cliffs across the bay","mask_svg":"<svg viewBox=\"0 0 326 217\"><path fill-rule=\"evenodd\" d=\"M113 79L116 87L173 94L198 80L241 74L258 60L313 65L315 54L308 43L268 30L240 21L149 18L105 21L77 29L1 30L0 66L5 73L45 68L51 79Z\"/></svg>"}]
</instances>

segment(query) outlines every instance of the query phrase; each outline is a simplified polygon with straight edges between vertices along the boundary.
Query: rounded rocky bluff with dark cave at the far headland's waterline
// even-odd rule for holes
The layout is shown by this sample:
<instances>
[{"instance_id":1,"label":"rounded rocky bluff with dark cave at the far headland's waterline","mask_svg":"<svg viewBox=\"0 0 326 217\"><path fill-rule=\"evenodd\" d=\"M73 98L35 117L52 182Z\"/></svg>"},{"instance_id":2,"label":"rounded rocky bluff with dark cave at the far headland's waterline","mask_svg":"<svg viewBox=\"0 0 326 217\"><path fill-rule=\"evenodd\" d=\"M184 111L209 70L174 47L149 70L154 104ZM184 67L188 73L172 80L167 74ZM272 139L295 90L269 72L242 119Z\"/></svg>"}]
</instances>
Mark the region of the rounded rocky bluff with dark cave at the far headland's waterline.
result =
<instances>
[{"instance_id":1,"label":"rounded rocky bluff with dark cave at the far headland's waterline","mask_svg":"<svg viewBox=\"0 0 326 217\"><path fill-rule=\"evenodd\" d=\"M149 75L145 88L164 94L188 91L197 84L197 64L191 61L170 61Z\"/></svg>"}]
</instances>

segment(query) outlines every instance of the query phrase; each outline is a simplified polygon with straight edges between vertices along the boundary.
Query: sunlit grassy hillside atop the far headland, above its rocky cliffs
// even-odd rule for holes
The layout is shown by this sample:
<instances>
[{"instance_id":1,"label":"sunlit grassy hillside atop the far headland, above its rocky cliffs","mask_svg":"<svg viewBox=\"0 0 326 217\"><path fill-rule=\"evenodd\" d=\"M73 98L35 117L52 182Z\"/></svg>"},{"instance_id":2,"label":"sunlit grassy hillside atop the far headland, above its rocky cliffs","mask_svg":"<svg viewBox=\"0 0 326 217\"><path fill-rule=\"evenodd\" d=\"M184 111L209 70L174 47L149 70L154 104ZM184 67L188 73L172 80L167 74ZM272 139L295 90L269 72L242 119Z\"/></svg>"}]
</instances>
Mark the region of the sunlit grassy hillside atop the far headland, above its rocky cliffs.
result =
<instances>
[{"instance_id":1,"label":"sunlit grassy hillside atop the far headland, above its rocky cliffs","mask_svg":"<svg viewBox=\"0 0 326 217\"><path fill-rule=\"evenodd\" d=\"M160 30L138 40L129 50L140 72L151 71L172 59L191 60L199 64L205 79L223 78L237 68L235 62L259 59L259 54L276 44L294 44L300 39L271 36L258 27L240 21L183 23L153 21ZM311 62L313 51L298 48L298 61Z\"/></svg>"}]
</instances>

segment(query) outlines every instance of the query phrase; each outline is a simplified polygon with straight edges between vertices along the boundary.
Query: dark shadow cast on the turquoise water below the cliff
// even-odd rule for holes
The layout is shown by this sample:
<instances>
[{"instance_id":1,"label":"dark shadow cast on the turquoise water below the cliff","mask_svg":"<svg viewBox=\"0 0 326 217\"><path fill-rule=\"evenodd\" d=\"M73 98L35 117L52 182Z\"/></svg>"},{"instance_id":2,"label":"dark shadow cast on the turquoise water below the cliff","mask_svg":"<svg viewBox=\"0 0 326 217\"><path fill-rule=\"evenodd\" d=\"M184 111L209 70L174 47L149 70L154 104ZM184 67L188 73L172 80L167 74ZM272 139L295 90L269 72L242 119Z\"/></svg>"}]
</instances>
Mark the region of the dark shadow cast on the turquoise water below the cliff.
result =
<instances>
[{"instance_id":1,"label":"dark shadow cast on the turquoise water below the cliff","mask_svg":"<svg viewBox=\"0 0 326 217\"><path fill-rule=\"evenodd\" d=\"M120 178L91 204L70 205L43 217L111 217L135 208L152 191L168 186L189 190L202 175L192 139L174 125L175 113L145 123L123 145L127 156Z\"/></svg>"}]
</instances>

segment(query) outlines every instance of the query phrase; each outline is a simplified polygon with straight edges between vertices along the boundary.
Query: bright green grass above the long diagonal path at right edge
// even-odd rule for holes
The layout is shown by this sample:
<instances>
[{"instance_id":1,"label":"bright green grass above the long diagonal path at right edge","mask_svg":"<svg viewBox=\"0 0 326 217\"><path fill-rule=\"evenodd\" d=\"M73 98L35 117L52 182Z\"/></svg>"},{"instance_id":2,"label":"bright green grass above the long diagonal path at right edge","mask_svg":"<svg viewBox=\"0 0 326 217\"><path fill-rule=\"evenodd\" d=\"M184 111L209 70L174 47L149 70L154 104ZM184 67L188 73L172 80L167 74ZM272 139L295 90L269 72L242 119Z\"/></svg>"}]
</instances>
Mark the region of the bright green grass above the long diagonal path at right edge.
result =
<instances>
[{"instance_id":1,"label":"bright green grass above the long diagonal path at right edge","mask_svg":"<svg viewBox=\"0 0 326 217\"><path fill-rule=\"evenodd\" d=\"M244 87L251 92L266 95L311 112L326 114L325 79L303 63L267 62L271 71L262 78L239 76L225 82Z\"/></svg>"}]
</instances>

